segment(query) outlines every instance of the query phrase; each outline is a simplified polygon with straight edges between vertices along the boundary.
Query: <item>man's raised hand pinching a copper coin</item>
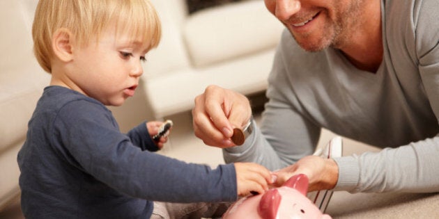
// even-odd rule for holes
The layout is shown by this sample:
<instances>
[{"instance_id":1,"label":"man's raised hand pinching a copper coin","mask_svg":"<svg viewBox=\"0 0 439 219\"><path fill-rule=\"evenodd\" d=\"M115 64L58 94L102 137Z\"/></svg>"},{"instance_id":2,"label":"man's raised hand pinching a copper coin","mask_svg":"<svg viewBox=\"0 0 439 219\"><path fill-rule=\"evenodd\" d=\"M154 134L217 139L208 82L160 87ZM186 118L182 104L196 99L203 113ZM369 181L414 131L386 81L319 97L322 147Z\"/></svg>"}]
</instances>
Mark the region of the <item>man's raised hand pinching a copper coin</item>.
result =
<instances>
[{"instance_id":1,"label":"man's raised hand pinching a copper coin","mask_svg":"<svg viewBox=\"0 0 439 219\"><path fill-rule=\"evenodd\" d=\"M195 98L192 109L195 136L206 145L235 146L231 141L234 128L241 128L252 117L252 108L244 95L218 86L208 86Z\"/></svg>"}]
</instances>

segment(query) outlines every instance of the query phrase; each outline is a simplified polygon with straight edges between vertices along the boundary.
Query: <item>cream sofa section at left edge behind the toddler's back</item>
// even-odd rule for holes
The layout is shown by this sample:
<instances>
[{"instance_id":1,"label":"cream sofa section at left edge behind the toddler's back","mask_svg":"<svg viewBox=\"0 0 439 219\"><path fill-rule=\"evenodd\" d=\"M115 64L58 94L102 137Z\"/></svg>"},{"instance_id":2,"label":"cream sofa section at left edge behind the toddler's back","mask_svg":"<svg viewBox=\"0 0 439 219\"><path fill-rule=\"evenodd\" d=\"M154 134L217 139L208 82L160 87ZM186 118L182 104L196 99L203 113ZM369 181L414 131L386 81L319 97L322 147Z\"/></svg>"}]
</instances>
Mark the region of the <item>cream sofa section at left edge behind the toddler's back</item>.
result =
<instances>
[{"instance_id":1,"label":"cream sofa section at left edge behind the toddler's back","mask_svg":"<svg viewBox=\"0 0 439 219\"><path fill-rule=\"evenodd\" d=\"M27 122L49 83L33 56L31 24L36 1L0 1L0 208L20 194L17 152Z\"/></svg>"}]
</instances>

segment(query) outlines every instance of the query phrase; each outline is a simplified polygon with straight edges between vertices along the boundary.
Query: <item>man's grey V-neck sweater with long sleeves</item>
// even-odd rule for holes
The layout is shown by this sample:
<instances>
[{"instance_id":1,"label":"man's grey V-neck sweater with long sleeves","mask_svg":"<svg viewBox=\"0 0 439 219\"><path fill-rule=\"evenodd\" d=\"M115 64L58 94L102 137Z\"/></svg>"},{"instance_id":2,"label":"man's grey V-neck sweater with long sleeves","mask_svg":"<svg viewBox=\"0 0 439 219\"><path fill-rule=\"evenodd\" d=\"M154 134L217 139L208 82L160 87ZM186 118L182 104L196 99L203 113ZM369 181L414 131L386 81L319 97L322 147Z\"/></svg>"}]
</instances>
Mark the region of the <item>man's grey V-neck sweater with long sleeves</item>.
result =
<instances>
[{"instance_id":1,"label":"man's grey V-neck sweater with long sleeves","mask_svg":"<svg viewBox=\"0 0 439 219\"><path fill-rule=\"evenodd\" d=\"M334 159L335 190L438 192L438 11L437 0L383 0L384 57L375 74L337 49L303 51L285 31L261 129L225 149L226 161L283 168L312 154L325 128L384 148Z\"/></svg>"}]
</instances>

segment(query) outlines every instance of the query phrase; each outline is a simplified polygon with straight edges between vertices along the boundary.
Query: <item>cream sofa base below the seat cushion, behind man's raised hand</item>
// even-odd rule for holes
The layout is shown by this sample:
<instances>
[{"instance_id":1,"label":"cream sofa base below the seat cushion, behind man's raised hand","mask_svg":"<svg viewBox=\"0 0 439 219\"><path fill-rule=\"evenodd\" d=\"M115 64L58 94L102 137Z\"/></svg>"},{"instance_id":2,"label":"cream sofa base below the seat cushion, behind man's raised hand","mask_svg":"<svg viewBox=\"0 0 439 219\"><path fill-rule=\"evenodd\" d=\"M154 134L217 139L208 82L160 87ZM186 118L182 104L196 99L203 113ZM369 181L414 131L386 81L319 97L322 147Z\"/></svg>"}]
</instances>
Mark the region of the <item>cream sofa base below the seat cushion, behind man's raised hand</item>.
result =
<instances>
[{"instance_id":1,"label":"cream sofa base below the seat cushion, behind man's raised hand","mask_svg":"<svg viewBox=\"0 0 439 219\"><path fill-rule=\"evenodd\" d=\"M154 80L142 80L153 117L189 111L206 86L216 84L245 95L265 90L275 49L199 69L180 69ZM153 95L151 95L153 94Z\"/></svg>"}]
</instances>

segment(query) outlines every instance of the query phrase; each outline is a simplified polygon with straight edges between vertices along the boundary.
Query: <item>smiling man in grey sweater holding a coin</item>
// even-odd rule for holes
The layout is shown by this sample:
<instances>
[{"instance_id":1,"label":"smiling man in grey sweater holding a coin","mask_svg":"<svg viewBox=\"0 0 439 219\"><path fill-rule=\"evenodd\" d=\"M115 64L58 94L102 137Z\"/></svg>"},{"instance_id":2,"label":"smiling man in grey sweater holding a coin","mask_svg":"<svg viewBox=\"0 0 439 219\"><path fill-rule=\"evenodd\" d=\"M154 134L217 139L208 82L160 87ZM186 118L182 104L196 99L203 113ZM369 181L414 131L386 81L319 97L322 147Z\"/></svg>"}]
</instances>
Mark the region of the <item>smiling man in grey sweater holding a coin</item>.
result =
<instances>
[{"instance_id":1,"label":"smiling man in grey sweater holding a coin","mask_svg":"<svg viewBox=\"0 0 439 219\"><path fill-rule=\"evenodd\" d=\"M195 100L195 134L226 162L254 161L277 184L305 173L309 190L439 191L439 1L265 0L282 35L261 128L246 97L210 86ZM289 33L288 33L289 32ZM304 51L305 50L305 51ZM384 148L309 156L321 128ZM345 145L349 147L349 145Z\"/></svg>"}]
</instances>

